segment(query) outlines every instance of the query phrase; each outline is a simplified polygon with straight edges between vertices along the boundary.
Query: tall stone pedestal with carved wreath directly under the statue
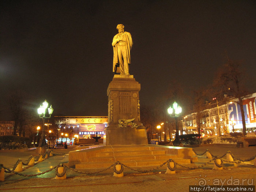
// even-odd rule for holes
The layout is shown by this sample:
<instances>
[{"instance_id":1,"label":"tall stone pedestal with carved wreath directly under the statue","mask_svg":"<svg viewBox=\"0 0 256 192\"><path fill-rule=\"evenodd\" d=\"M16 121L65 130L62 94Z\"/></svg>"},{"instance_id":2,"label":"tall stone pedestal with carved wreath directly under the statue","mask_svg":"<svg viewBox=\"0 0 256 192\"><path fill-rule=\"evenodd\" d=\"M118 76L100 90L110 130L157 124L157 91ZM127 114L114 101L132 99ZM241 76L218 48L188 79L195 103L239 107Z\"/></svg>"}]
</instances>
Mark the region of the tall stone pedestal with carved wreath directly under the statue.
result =
<instances>
[{"instance_id":1,"label":"tall stone pedestal with carved wreath directly under the statue","mask_svg":"<svg viewBox=\"0 0 256 192\"><path fill-rule=\"evenodd\" d=\"M129 145L147 144L146 128L140 123L140 84L133 75L114 75L109 83L108 127L104 130L103 144ZM118 120L133 119L138 128L118 128Z\"/></svg>"}]
</instances>

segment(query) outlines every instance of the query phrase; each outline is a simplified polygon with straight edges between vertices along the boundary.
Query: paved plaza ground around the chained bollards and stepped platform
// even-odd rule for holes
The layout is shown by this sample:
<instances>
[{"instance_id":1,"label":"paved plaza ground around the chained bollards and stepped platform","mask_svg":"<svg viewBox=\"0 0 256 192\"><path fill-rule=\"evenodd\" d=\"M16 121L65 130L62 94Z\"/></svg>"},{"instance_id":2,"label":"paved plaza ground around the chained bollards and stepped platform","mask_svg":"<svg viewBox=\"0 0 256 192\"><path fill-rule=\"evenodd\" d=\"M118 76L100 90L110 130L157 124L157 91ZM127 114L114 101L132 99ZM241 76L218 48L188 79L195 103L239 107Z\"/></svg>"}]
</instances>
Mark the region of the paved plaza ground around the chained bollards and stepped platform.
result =
<instances>
[{"instance_id":1,"label":"paved plaza ground around the chained bollards and stepped platform","mask_svg":"<svg viewBox=\"0 0 256 192\"><path fill-rule=\"evenodd\" d=\"M231 151L235 157L247 159L256 154L256 146L248 148L234 147L195 147L194 150L200 154L209 149L212 154L222 156L227 151ZM45 172L50 168L59 165L59 163L68 162L68 152L75 150L72 146L63 149L53 150L54 155L43 162L37 163L31 167L25 167L23 174L36 174ZM12 167L20 158L25 161L30 155L36 156L37 151L27 152L0 152L0 163L5 167ZM224 157L225 158L225 157ZM166 159L168 160L168 159ZM198 156L198 162L187 164L186 166L195 167L203 165L210 161L205 155ZM151 173L139 173L124 168L124 177L113 177L113 167L93 175L76 173L67 169L66 180L56 180L55 170L35 177L18 176L12 173L5 173L5 181L0 182L0 191L189 191L189 185L254 185L256 181L255 159L250 162L239 164L224 162L223 170L213 170L213 162L200 168L190 170L177 166L176 174L165 174L166 165L160 167ZM137 167L136 167L137 168ZM153 169L155 167L139 167L140 170ZM96 169L86 169L84 172L96 172Z\"/></svg>"}]
</instances>

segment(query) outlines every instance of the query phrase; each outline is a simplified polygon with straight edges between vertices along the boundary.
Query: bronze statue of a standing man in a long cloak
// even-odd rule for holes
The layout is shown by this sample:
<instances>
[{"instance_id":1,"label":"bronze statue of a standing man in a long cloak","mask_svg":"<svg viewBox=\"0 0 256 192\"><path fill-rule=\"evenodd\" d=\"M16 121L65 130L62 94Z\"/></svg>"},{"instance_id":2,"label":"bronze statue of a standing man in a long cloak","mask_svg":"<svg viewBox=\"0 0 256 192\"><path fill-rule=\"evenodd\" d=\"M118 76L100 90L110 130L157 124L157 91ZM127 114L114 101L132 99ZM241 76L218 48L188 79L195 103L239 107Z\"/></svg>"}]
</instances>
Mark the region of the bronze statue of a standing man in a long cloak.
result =
<instances>
[{"instance_id":1,"label":"bronze statue of a standing man in a long cloak","mask_svg":"<svg viewBox=\"0 0 256 192\"><path fill-rule=\"evenodd\" d=\"M122 24L117 25L116 29L118 29L118 34L114 36L112 42L114 50L113 72L120 72L120 75L130 75L129 64L131 64L132 36L124 31Z\"/></svg>"}]
</instances>

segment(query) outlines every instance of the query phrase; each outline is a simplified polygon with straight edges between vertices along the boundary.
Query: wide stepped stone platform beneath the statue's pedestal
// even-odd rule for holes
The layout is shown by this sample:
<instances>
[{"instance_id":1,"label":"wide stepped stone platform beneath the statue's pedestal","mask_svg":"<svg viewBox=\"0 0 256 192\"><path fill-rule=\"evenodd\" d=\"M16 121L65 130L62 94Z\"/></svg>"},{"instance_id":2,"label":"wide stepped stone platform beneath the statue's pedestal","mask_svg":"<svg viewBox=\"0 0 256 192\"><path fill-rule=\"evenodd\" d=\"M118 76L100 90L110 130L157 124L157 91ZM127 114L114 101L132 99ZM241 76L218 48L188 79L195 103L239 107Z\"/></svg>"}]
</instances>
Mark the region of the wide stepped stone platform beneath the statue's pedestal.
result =
<instances>
[{"instance_id":1,"label":"wide stepped stone platform beneath the statue's pedestal","mask_svg":"<svg viewBox=\"0 0 256 192\"><path fill-rule=\"evenodd\" d=\"M81 147L77 147L81 148ZM172 158L177 163L197 161L192 148L143 145L86 146L69 152L68 166L76 169L106 168L120 161L127 166L157 166Z\"/></svg>"}]
</instances>

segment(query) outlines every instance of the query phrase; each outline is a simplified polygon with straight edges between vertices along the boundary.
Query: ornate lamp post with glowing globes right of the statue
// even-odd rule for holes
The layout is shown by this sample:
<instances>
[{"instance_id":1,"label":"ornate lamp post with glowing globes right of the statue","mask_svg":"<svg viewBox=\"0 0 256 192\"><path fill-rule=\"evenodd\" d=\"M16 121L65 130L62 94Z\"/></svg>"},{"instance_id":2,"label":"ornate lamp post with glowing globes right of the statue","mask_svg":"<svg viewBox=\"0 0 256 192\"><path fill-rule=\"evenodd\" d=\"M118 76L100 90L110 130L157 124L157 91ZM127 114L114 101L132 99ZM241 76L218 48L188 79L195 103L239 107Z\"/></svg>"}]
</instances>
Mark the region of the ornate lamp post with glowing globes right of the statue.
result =
<instances>
[{"instance_id":1,"label":"ornate lamp post with glowing globes right of the statue","mask_svg":"<svg viewBox=\"0 0 256 192\"><path fill-rule=\"evenodd\" d=\"M181 141L180 141L180 136L179 136L179 129L178 129L178 122L177 122L177 117L180 116L181 113L181 106L178 106L178 103L174 101L173 103L173 108L170 106L168 109L168 113L170 114L171 117L175 118L176 121L176 133L175 133L175 139L173 141L174 146L180 146ZM174 112L174 114L173 114Z\"/></svg>"}]
</instances>

